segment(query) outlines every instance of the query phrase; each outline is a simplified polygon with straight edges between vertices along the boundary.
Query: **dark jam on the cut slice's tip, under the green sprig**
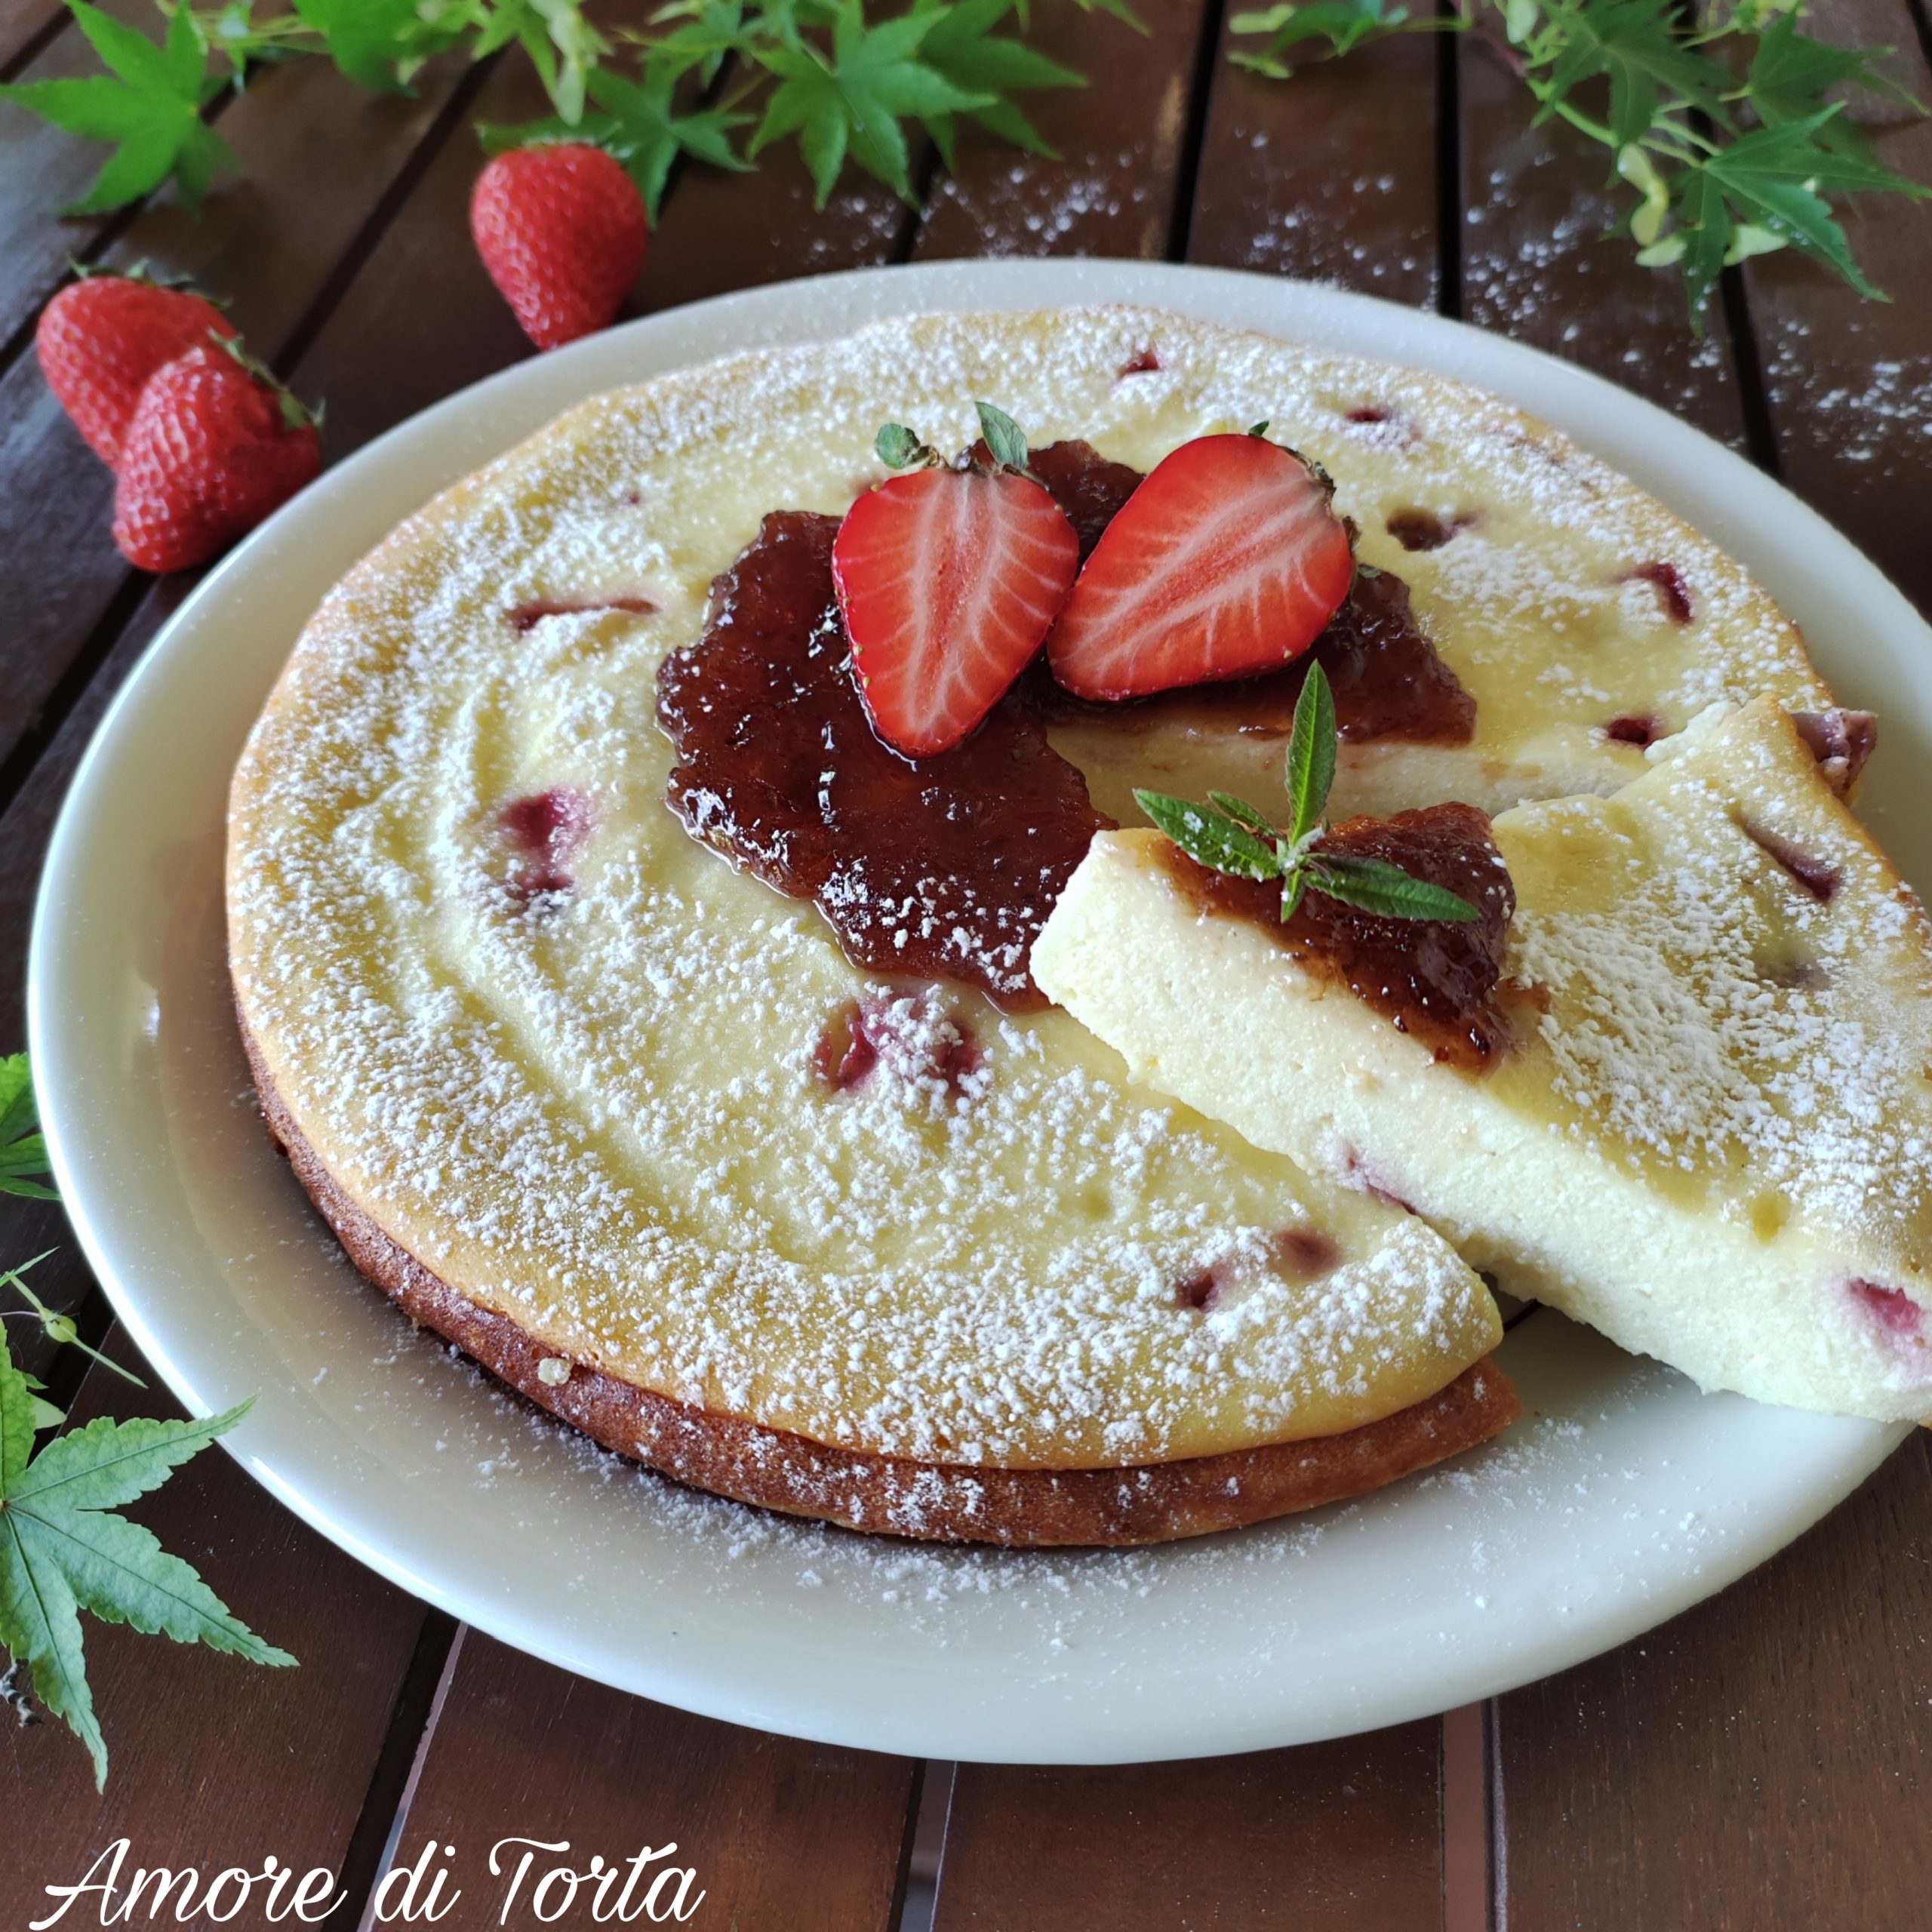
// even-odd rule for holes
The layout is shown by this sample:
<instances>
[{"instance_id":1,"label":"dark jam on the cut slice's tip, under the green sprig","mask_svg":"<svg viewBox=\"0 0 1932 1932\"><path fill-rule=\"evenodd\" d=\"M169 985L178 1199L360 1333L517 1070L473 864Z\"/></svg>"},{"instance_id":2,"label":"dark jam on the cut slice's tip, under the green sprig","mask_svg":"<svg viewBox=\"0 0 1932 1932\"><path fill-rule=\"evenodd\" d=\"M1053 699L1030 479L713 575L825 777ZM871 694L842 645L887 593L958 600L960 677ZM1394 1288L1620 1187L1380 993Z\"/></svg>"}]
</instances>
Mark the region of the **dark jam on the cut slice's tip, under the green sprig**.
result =
<instances>
[{"instance_id":1,"label":"dark jam on the cut slice's tip, under the green sprig","mask_svg":"<svg viewBox=\"0 0 1932 1932\"><path fill-rule=\"evenodd\" d=\"M1343 819L1318 850L1399 866L1466 898L1482 918L1391 920L1310 891L1283 923L1279 883L1209 871L1177 846L1163 858L1202 912L1250 920L1306 972L1349 987L1437 1061L1464 1072L1493 1066L1509 1043L1497 981L1517 893L1488 815L1430 806L1393 819Z\"/></svg>"}]
</instances>

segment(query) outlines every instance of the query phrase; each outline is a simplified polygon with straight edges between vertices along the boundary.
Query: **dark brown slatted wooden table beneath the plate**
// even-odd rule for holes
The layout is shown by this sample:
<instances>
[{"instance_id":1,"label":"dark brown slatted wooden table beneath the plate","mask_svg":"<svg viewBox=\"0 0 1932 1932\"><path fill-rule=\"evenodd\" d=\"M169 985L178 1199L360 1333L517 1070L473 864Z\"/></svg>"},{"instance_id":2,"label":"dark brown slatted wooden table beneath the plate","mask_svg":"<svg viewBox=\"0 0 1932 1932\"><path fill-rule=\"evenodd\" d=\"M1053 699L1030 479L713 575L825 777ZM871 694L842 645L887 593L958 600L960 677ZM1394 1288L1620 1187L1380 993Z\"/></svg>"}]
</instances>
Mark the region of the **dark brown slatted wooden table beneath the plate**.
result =
<instances>
[{"instance_id":1,"label":"dark brown slatted wooden table beneath the plate","mask_svg":"<svg viewBox=\"0 0 1932 1932\"><path fill-rule=\"evenodd\" d=\"M1146 255L1316 276L1569 355L1747 450L1932 612L1932 209L1857 232L1897 298L1864 305L1793 257L1733 272L1698 342L1671 276L1600 243L1604 164L1480 44L1410 39L1291 85L1231 68L1215 0L1136 0L1140 41L1037 0L1084 93L1037 97L1059 160L966 135L922 156L914 214L848 180L823 214L790 158L690 168L636 313L821 269L943 255ZM110 12L145 19L145 0ZM641 12L641 10L638 10ZM1924 14L1830 0L1824 31L1899 48L1932 97ZM56 0L0 0L0 77L85 71ZM234 299L251 344L328 400L342 458L527 355L469 245L469 122L539 110L520 54L435 68L412 99L323 64L218 104L245 156L201 220L166 195L56 222L95 155L0 108L0 947L21 1043L27 916L62 790L102 705L191 587L129 572L108 473L41 383L33 321L70 255L147 257ZM1932 180L1932 124L1888 137ZM60 1244L43 1291L110 1335L54 1209L0 1204L4 1260ZM12 1325L25 1343L31 1333ZM118 1339L110 1347L124 1349ZM75 1414L166 1410L73 1350L27 1356ZM497 1922L504 1835L628 1859L676 1839L740 1932L1138 1932L1321 1926L1932 1924L1932 1468L1917 1435L1826 1524L1723 1596L1580 1669L1368 1737L1113 1770L935 1766L732 1729L620 1696L458 1629L323 1542L222 1455L135 1513L299 1671L89 1625L114 1772L46 1725L0 1748L0 1926L46 1911L120 1835L143 1864L342 1872L367 1917L392 1853L458 1847L458 1932ZM549 1861L545 1861L549 1862ZM522 1909L514 1924L533 1924ZM77 1917L77 1915L73 1915ZM66 1922L73 1922L73 1917ZM259 1922L245 1917L245 1924ZM587 1924L578 1909L564 1924Z\"/></svg>"}]
</instances>

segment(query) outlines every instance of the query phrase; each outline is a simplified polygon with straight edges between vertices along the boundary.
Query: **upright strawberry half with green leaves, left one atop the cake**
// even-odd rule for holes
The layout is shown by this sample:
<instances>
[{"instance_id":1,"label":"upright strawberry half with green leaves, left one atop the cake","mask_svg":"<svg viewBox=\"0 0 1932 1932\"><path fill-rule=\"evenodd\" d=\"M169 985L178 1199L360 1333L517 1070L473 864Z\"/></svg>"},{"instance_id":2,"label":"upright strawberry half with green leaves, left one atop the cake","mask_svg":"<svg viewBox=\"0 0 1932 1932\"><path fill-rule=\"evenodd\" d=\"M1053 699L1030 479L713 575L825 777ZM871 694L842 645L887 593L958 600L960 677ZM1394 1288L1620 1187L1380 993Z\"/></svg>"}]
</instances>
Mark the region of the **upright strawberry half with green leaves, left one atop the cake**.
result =
<instances>
[{"instance_id":1,"label":"upright strawberry half with green leaves, left one atop the cake","mask_svg":"<svg viewBox=\"0 0 1932 1932\"><path fill-rule=\"evenodd\" d=\"M1072 524L1028 473L1026 437L976 408L989 466L954 468L887 423L879 460L918 468L860 497L833 543L860 701L906 757L949 752L1007 696L1080 568Z\"/></svg>"}]
</instances>

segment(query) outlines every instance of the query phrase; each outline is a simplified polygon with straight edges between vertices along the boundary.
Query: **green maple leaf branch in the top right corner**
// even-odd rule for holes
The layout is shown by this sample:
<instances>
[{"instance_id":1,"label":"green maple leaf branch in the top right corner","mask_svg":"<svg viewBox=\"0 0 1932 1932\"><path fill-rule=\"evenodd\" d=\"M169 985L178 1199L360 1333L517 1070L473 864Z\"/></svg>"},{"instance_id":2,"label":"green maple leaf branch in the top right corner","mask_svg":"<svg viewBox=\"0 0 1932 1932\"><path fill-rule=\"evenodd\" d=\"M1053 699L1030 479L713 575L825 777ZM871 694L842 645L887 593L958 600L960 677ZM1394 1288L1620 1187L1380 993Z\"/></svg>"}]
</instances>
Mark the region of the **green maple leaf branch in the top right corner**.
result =
<instances>
[{"instance_id":1,"label":"green maple leaf branch in the top right corner","mask_svg":"<svg viewBox=\"0 0 1932 1932\"><path fill-rule=\"evenodd\" d=\"M1236 14L1258 44L1233 58L1287 79L1291 56L1339 58L1397 33L1484 31L1536 100L1609 151L1633 193L1623 220L1646 269L1677 269L1692 325L1718 278L1750 255L1795 247L1884 299L1851 253L1830 197L1932 187L1888 168L1845 100L1862 93L1920 114L1882 68L1888 46L1832 46L1799 31L1797 0L1733 0L1702 29L1681 0L1457 0L1412 15L1393 0L1283 0Z\"/></svg>"}]
</instances>

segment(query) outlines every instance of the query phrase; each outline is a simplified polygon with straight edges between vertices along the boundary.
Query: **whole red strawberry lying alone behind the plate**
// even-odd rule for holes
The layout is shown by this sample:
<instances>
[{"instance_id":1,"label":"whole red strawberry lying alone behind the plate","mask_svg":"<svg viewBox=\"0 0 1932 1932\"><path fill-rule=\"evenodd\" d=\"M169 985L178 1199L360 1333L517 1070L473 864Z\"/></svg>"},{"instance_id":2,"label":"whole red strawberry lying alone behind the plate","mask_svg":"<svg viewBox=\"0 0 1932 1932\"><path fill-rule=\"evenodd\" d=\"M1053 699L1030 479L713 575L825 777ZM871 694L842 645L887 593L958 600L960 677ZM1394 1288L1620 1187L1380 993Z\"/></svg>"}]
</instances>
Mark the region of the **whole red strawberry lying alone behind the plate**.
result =
<instances>
[{"instance_id":1,"label":"whole red strawberry lying alone behind the plate","mask_svg":"<svg viewBox=\"0 0 1932 1932\"><path fill-rule=\"evenodd\" d=\"M489 278L539 350L605 328L643 267L638 184L583 141L498 155L469 197Z\"/></svg>"}]
</instances>

